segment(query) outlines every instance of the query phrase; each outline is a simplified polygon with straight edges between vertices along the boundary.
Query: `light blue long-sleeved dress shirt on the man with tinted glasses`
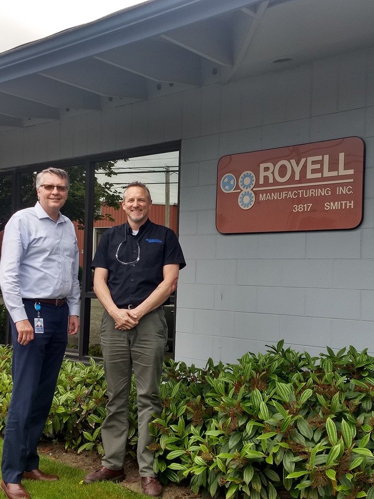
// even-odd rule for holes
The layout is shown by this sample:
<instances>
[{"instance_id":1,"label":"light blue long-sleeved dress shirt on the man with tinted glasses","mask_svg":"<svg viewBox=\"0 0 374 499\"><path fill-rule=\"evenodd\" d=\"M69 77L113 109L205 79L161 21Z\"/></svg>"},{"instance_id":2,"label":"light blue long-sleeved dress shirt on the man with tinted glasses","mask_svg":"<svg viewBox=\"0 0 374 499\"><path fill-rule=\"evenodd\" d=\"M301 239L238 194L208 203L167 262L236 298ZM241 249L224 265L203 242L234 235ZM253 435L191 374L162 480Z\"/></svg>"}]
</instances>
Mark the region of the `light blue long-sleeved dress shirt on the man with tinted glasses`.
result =
<instances>
[{"instance_id":1,"label":"light blue long-sleeved dress shirt on the man with tinted glasses","mask_svg":"<svg viewBox=\"0 0 374 499\"><path fill-rule=\"evenodd\" d=\"M54 222L39 203L20 210L4 229L0 286L14 322L27 319L22 298L67 298L79 315L79 253L74 226L59 213Z\"/></svg>"}]
</instances>

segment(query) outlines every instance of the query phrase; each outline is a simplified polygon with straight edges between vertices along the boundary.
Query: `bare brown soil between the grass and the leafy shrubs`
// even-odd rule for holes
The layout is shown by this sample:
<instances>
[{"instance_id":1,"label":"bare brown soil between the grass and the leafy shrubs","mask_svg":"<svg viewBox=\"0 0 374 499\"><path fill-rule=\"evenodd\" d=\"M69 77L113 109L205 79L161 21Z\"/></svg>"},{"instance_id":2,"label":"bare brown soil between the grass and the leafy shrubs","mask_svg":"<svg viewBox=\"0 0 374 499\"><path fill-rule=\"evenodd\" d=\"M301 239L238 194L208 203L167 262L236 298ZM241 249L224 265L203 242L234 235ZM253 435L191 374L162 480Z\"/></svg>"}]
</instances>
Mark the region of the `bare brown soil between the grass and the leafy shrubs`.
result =
<instances>
[{"instance_id":1,"label":"bare brown soil between the grass and the leafy shrubs","mask_svg":"<svg viewBox=\"0 0 374 499\"><path fill-rule=\"evenodd\" d=\"M38 447L41 456L82 470L82 479L86 473L96 471L101 466L101 458L96 452L81 452L77 454L71 449L65 449L64 443L41 442ZM126 479L121 486L133 492L142 492L139 469L137 462L130 456L125 461ZM163 488L163 499L192 499L196 498L187 486L181 484L168 484Z\"/></svg>"}]
</instances>

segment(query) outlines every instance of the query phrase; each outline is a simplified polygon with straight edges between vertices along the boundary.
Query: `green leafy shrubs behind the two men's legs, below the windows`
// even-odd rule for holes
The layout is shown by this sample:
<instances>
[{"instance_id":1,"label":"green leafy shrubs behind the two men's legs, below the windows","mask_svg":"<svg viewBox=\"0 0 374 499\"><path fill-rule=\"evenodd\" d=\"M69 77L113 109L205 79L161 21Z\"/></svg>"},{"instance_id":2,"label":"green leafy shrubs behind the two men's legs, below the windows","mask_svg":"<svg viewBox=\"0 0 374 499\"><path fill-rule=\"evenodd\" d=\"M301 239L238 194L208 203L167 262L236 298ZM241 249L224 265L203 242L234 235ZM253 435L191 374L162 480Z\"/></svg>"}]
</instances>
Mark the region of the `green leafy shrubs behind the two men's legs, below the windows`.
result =
<instances>
[{"instance_id":1,"label":"green leafy shrubs behind the two men's legs, below the windows","mask_svg":"<svg viewBox=\"0 0 374 499\"><path fill-rule=\"evenodd\" d=\"M0 346L0 432L3 433L11 392L11 348ZM95 450L103 454L100 437L106 415L106 380L101 365L90 360L64 361L43 436L65 442L65 447L81 452ZM130 394L129 454L137 445L137 406L135 382Z\"/></svg>"}]
</instances>

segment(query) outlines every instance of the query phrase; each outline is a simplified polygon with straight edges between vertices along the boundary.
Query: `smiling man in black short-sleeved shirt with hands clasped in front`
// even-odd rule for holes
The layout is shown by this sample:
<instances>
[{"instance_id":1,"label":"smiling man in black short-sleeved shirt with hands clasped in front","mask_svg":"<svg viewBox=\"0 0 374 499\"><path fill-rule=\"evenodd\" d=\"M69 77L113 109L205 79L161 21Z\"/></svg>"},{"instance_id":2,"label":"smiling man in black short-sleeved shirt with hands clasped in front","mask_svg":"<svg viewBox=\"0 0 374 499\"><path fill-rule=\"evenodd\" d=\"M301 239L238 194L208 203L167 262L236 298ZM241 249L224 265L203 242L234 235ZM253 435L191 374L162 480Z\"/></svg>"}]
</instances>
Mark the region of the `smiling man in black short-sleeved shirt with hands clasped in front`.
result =
<instances>
[{"instance_id":1,"label":"smiling man in black short-sleeved shirt with hands clasped in front","mask_svg":"<svg viewBox=\"0 0 374 499\"><path fill-rule=\"evenodd\" d=\"M151 206L146 185L129 184L122 201L128 221L103 234L92 262L94 291L105 308L101 349L109 401L101 431L102 466L83 482L125 478L128 399L134 371L142 488L145 494L158 497L162 487L147 446L153 441L149 433L152 413L161 413L159 382L168 338L162 305L176 290L179 270L186 262L174 232L149 220Z\"/></svg>"}]
</instances>

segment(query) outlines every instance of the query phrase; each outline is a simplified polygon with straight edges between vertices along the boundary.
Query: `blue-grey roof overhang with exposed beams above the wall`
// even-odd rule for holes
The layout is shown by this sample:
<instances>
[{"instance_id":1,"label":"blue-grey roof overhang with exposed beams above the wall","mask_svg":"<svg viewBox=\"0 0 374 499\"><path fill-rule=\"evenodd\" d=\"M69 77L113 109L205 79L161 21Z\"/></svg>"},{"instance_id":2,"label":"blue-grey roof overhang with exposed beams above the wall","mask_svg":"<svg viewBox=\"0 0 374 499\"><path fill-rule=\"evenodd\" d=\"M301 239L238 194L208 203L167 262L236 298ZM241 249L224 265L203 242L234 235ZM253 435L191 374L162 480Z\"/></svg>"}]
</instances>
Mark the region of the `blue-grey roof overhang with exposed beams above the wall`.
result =
<instances>
[{"instance_id":1,"label":"blue-grey roof overhang with exposed beams above the wall","mask_svg":"<svg viewBox=\"0 0 374 499\"><path fill-rule=\"evenodd\" d=\"M370 47L373 19L369 0L145 1L0 54L0 131Z\"/></svg>"}]
</instances>

